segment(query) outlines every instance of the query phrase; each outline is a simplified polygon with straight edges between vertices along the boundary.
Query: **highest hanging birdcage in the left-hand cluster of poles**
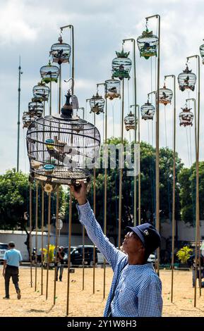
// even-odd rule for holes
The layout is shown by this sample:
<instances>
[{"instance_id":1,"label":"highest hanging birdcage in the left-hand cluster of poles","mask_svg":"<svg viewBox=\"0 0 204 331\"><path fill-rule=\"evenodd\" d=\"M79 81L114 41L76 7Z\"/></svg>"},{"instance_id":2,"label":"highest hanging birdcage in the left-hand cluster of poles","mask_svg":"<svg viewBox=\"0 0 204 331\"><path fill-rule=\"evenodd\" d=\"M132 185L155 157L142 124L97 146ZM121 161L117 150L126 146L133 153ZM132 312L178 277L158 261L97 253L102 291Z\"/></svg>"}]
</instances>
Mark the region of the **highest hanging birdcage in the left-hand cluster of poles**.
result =
<instances>
[{"instance_id":1,"label":"highest hanging birdcage in the left-hand cluster of poles","mask_svg":"<svg viewBox=\"0 0 204 331\"><path fill-rule=\"evenodd\" d=\"M52 55L52 61L60 65L61 63L69 61L71 46L63 42L61 35L59 36L58 41L59 42L52 45L50 54Z\"/></svg>"}]
</instances>

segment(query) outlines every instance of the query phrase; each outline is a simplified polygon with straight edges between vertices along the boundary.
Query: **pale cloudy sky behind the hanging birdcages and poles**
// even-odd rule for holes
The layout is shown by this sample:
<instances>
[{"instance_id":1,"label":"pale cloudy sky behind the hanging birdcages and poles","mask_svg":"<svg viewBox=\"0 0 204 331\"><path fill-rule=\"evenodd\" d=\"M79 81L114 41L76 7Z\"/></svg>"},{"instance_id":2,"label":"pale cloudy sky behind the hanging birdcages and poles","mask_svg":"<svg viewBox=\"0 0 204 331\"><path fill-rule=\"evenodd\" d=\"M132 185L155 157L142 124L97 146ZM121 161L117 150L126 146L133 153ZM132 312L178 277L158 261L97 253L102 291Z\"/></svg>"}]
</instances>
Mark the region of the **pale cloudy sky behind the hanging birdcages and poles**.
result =
<instances>
[{"instance_id":1,"label":"pale cloudy sky behind the hanging birdcages and poles","mask_svg":"<svg viewBox=\"0 0 204 331\"><path fill-rule=\"evenodd\" d=\"M164 75L174 74L177 77L185 68L186 56L199 54L199 46L203 43L204 38L204 2L201 0L59 0L57 2L53 0L0 0L0 5L0 173L16 166L19 55L23 70L20 110L22 115L23 111L27 110L28 102L32 98L32 87L40 80L40 67L47 64L49 49L59 37L60 26L72 24L75 29L75 93L78 96L80 106L84 107L85 99L90 98L96 92L96 83L104 82L111 77L112 59L115 57L115 51L121 49L122 39L130 37L137 39L145 28L147 15L155 13L161 15L161 87ZM149 27L153 29L153 32L156 32L156 21L151 21ZM70 42L68 30L64 31L63 38L65 42ZM125 49L132 51L132 45L126 44ZM189 66L196 73L196 61L192 60ZM137 100L140 105L147 101L147 93L151 89L150 67L151 61L140 58L136 47ZM155 59L152 59L152 68L154 67ZM202 92L204 68L202 62L200 69L200 159L203 160L204 104ZM69 70L69 65L64 64L64 79L68 78ZM125 114L128 113L128 104L132 104L133 101L132 83L132 79L129 84L126 82ZM152 70L152 88L154 85L155 74ZM66 93L66 87L64 84L63 94ZM171 80L167 82L167 87L172 87ZM55 86L53 112L55 112L54 108L57 107L56 93L57 87ZM103 94L102 87L100 93ZM196 92L191 92L189 96L195 97ZM178 115L187 97L188 92L180 92L176 81L176 150L186 166L195 160L193 128L191 129L192 142L190 144L190 130L179 127ZM114 133L117 137L119 136L120 111L120 101L109 102L109 136L113 135L113 113ZM166 130L164 107L161 106L160 146L166 145L167 132L167 145L172 148L172 106L166 107L165 111ZM89 111L87 111L87 119L92 121ZM102 116L97 117L97 127L102 132ZM153 138L155 136L155 122L148 125L147 122L143 121L140 130L141 139L152 142L152 136ZM23 130L21 123L20 169L28 172L25 135L26 129ZM129 135L126 137L129 138ZM190 146L191 153L190 151L188 153ZM191 158L190 163L189 157Z\"/></svg>"}]
</instances>

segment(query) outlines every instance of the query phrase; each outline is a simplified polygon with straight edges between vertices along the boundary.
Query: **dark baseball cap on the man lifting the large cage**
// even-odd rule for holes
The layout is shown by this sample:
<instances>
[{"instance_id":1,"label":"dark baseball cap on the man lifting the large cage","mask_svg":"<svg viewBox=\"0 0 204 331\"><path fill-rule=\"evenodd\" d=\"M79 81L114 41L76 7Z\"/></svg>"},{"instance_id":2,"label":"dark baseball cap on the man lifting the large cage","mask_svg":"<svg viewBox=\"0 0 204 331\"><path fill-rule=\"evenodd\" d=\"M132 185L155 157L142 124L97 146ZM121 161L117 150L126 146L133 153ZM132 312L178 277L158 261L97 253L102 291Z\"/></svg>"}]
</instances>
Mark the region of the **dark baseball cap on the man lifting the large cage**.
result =
<instances>
[{"instance_id":1,"label":"dark baseball cap on the man lifting the large cage","mask_svg":"<svg viewBox=\"0 0 204 331\"><path fill-rule=\"evenodd\" d=\"M138 235L147 254L150 255L153 251L155 251L155 249L160 247L160 233L150 223L143 223L136 227L126 227L126 229L131 230Z\"/></svg>"}]
</instances>

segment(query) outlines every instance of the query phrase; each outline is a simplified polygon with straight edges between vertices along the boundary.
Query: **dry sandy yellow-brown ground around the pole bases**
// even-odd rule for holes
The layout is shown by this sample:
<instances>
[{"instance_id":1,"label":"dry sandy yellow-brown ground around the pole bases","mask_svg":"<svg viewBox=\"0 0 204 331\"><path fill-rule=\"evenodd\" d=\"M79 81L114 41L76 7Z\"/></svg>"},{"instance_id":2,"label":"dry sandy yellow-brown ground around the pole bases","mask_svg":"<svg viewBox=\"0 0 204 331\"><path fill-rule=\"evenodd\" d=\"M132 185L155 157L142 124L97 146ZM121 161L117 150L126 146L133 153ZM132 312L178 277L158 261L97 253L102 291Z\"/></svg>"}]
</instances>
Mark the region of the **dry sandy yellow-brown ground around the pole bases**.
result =
<instances>
[{"instance_id":1,"label":"dry sandy yellow-brown ground around the pole bases","mask_svg":"<svg viewBox=\"0 0 204 331\"><path fill-rule=\"evenodd\" d=\"M2 267L1 270L2 271ZM32 269L33 286L35 285L35 269ZM197 308L193 307L194 290L191 282L191 271L174 271L174 303L171 304L171 271L161 270L162 294L164 300L163 316L204 316L204 291L199 296L197 291ZM92 294L92 269L85 269L85 289L83 286L83 270L76 268L70 277L69 316L102 316L103 300L102 268L95 269L95 294ZM112 282L112 270L106 268L106 298ZM49 271L48 299L45 298L46 270L44 270L44 293L41 291L41 269L37 269L37 291L30 287L30 268L20 268L20 289L22 298L16 297L13 284L10 285L10 300L4 296L4 278L0 275L0 316L66 316L67 269L64 269L62 282L56 282L56 305L53 305L54 270Z\"/></svg>"}]
</instances>

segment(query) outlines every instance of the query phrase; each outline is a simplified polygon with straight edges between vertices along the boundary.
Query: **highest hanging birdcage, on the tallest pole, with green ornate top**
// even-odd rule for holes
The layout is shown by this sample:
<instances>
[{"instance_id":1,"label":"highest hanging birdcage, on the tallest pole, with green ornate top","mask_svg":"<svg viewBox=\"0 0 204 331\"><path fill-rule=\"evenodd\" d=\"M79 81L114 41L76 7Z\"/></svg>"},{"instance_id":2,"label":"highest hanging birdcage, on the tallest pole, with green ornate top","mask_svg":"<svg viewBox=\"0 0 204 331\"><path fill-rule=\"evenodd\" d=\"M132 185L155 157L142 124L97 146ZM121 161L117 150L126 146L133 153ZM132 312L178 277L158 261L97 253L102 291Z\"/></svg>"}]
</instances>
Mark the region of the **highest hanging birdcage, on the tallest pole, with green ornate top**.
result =
<instances>
[{"instance_id":1,"label":"highest hanging birdcage, on the tallest pole, with green ornate top","mask_svg":"<svg viewBox=\"0 0 204 331\"><path fill-rule=\"evenodd\" d=\"M150 58L150 56L157 56L157 48L159 39L156 35L153 35L152 31L146 30L143 31L143 34L138 37L138 49L140 51L140 57L144 57L146 59Z\"/></svg>"}]
</instances>

